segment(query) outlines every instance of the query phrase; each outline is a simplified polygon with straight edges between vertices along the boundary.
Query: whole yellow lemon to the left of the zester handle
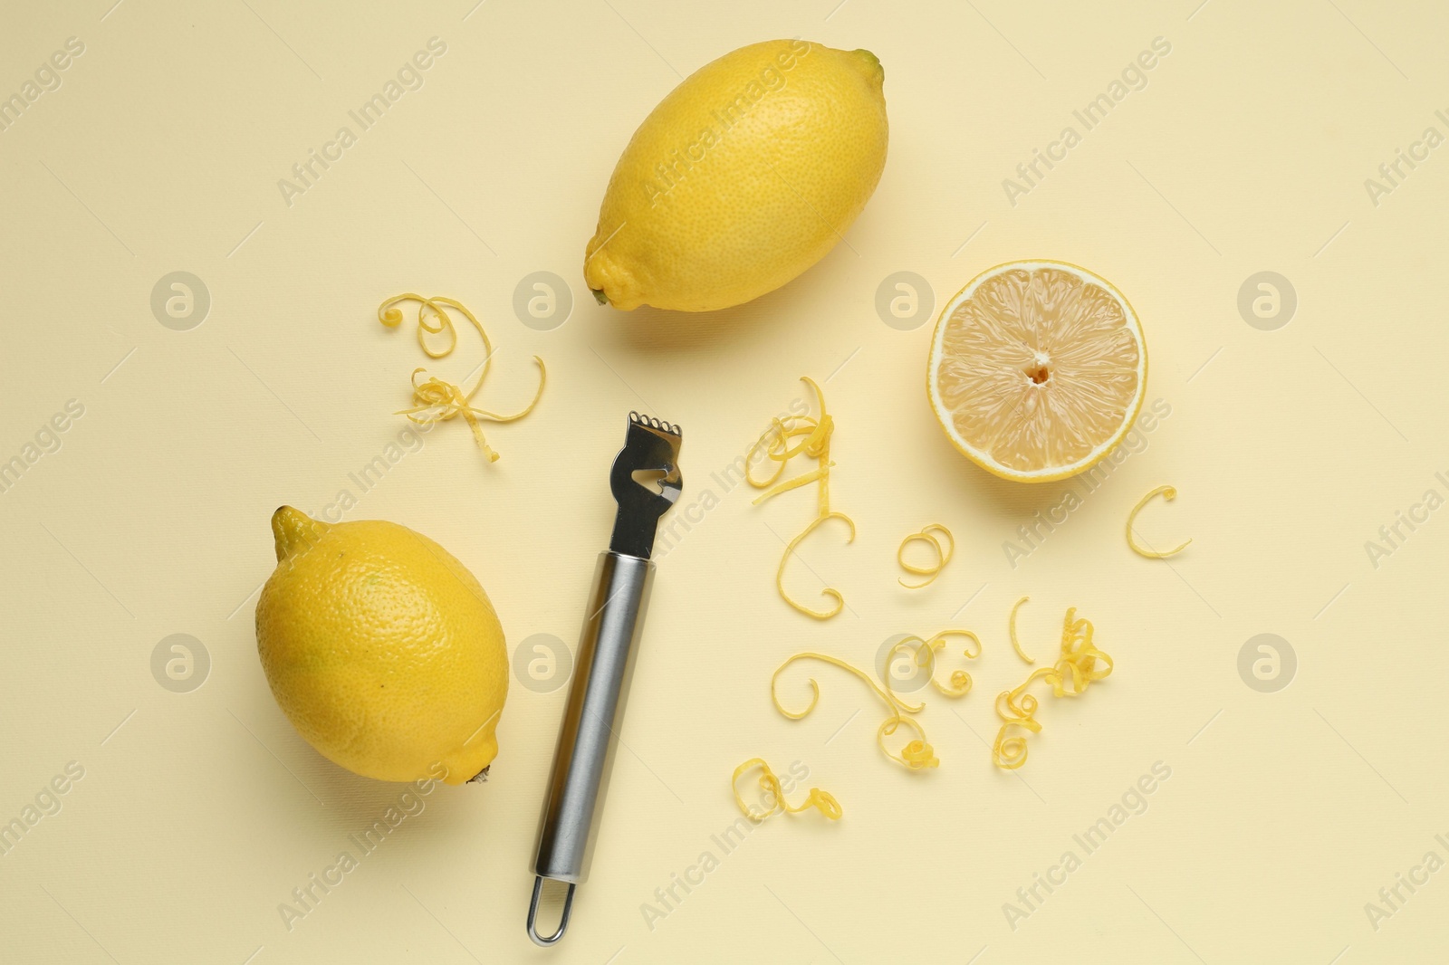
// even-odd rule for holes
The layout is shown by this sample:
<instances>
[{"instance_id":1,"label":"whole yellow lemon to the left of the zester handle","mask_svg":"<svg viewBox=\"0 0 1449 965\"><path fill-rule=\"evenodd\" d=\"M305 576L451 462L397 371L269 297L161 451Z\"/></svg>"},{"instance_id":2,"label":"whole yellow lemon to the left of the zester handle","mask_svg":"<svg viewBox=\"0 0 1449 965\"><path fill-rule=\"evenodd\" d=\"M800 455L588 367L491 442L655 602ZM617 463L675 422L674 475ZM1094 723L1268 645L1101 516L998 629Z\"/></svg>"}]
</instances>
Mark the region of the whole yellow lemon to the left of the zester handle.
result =
<instances>
[{"instance_id":1,"label":"whole yellow lemon to the left of the zester handle","mask_svg":"<svg viewBox=\"0 0 1449 965\"><path fill-rule=\"evenodd\" d=\"M472 574L397 523L327 525L283 506L272 535L256 652L307 743L383 781L462 784L487 768L509 658Z\"/></svg>"}]
</instances>

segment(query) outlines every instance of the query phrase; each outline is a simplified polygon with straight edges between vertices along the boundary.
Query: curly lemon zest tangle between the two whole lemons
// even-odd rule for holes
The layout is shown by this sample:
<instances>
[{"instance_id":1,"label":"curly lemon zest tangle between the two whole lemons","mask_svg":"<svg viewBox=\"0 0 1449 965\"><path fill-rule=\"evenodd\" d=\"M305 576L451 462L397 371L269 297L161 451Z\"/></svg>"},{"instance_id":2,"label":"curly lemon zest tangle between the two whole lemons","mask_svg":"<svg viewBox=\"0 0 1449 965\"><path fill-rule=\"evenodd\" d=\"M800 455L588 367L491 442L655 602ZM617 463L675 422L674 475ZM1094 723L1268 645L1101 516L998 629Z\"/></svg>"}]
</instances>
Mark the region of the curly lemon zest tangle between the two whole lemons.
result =
<instances>
[{"instance_id":1,"label":"curly lemon zest tangle between the two whole lemons","mask_svg":"<svg viewBox=\"0 0 1449 965\"><path fill-rule=\"evenodd\" d=\"M480 420L487 422L514 422L523 419L533 407L539 404L539 398L543 397L543 385L548 384L548 369L543 367L543 359L538 355L533 356L533 362L539 367L539 387L533 393L533 400L529 401L520 412L516 413L496 413L487 409L478 409L472 404L472 397L478 394L483 388L483 380L488 377L488 368L493 365L493 341L488 338L488 332L483 327L483 322L467 309L461 301L455 298L432 297L407 291L400 296L393 296L387 301L378 306L377 320L390 329L396 329L403 323L403 312L397 306L404 301L417 303L417 345L423 349L427 358L445 358L458 348L458 329L454 326L452 316L448 314L446 309L454 309L477 329L478 336L483 339L483 364L478 367L478 380L472 384L472 388L464 391L462 387L455 385L449 381L438 378L436 375L427 377L419 381L419 375L425 375L427 369L414 368L413 369L413 401L416 403L412 409L401 409L396 414L406 416L410 422L419 426L435 425L439 422L448 422L462 416L464 422L468 423L468 429L472 430L472 439L478 443L478 448L488 458L488 462L497 462L498 454L494 452L493 446L483 435L483 426ZM446 348L435 349L427 345L427 335L445 335L448 336Z\"/></svg>"}]
</instances>

